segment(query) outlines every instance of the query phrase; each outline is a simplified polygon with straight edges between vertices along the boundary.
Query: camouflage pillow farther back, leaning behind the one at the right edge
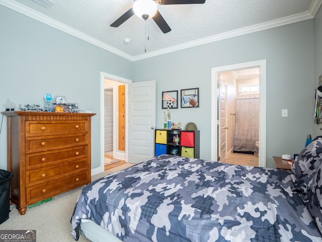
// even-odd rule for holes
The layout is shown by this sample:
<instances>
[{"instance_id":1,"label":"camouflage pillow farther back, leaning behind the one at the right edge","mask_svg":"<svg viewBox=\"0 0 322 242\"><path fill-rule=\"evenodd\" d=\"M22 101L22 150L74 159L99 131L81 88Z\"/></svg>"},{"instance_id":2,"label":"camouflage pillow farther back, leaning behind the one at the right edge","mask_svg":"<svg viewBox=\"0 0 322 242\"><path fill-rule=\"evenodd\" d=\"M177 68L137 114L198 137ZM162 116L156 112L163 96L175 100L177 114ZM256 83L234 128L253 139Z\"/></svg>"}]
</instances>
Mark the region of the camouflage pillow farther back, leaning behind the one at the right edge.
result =
<instances>
[{"instance_id":1,"label":"camouflage pillow farther back, leaning behind the one at the right edge","mask_svg":"<svg viewBox=\"0 0 322 242\"><path fill-rule=\"evenodd\" d=\"M322 136L317 136L294 160L291 169L297 180L297 187L304 202L307 202L308 190L318 167L322 163Z\"/></svg>"}]
</instances>

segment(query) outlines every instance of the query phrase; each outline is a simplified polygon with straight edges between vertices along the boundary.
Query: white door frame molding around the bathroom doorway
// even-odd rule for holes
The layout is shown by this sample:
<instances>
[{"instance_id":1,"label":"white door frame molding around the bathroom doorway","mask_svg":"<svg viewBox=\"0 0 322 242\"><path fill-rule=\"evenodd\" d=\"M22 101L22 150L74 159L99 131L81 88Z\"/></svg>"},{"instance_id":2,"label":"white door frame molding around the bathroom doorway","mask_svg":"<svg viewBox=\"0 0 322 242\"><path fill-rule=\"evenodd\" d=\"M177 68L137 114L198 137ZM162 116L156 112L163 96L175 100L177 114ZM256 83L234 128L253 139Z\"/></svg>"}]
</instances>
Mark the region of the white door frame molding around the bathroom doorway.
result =
<instances>
[{"instance_id":1,"label":"white door frame molding around the bathroom doorway","mask_svg":"<svg viewBox=\"0 0 322 242\"><path fill-rule=\"evenodd\" d=\"M240 69L260 68L260 130L259 130L259 166L266 167L266 59L260 61L234 64L229 66L215 67L211 69L211 160L216 161L218 157L218 73L231 72Z\"/></svg>"}]
</instances>

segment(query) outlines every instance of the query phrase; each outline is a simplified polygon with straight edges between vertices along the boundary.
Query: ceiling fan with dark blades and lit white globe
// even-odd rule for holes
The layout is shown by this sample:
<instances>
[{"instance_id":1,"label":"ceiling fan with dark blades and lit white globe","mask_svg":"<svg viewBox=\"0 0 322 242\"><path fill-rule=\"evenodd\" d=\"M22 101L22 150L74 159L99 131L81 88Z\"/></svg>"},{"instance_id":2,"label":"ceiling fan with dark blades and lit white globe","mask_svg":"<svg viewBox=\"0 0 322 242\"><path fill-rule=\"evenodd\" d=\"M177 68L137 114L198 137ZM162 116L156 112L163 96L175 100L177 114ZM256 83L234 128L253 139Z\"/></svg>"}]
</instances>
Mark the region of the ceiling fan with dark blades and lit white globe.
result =
<instances>
[{"instance_id":1,"label":"ceiling fan with dark blades and lit white globe","mask_svg":"<svg viewBox=\"0 0 322 242\"><path fill-rule=\"evenodd\" d=\"M134 14L138 17L147 20L152 18L156 25L164 33L171 31L171 28L167 24L166 20L157 10L157 4L159 5L174 5L174 4L204 4L206 0L134 0L133 7L125 12L120 18L118 18L111 27L119 27L126 20L132 17ZM151 10L149 13L148 11Z\"/></svg>"}]
</instances>

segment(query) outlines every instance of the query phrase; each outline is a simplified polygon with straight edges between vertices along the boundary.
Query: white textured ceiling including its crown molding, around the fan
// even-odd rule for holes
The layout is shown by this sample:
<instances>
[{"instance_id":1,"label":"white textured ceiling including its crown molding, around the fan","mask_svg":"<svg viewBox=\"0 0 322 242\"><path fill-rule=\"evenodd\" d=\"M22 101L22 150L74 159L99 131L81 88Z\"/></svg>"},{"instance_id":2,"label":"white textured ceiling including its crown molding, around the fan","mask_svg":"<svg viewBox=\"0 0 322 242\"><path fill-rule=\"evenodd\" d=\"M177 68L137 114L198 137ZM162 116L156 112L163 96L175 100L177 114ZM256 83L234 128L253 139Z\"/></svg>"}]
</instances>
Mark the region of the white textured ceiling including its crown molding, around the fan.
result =
<instances>
[{"instance_id":1,"label":"white textured ceiling including its crown molding, around the fan","mask_svg":"<svg viewBox=\"0 0 322 242\"><path fill-rule=\"evenodd\" d=\"M0 4L136 61L203 43L313 18L322 0L206 0L205 4L158 5L172 31L164 34L153 20L132 16L110 27L133 0L52 0L46 8L32 0ZM152 0L151 0L152 1ZM130 39L126 44L124 39Z\"/></svg>"}]
</instances>

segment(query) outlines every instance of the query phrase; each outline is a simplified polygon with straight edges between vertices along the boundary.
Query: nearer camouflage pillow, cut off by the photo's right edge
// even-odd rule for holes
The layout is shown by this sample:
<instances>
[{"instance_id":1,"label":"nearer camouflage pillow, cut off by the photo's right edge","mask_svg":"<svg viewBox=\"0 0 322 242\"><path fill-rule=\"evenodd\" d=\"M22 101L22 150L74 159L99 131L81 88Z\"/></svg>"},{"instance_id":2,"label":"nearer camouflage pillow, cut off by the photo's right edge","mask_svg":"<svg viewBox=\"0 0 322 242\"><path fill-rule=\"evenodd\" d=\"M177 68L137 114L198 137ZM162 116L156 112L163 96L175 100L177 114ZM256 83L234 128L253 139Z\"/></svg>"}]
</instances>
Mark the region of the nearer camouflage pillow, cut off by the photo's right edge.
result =
<instances>
[{"instance_id":1,"label":"nearer camouflage pillow, cut off by the photo's right edge","mask_svg":"<svg viewBox=\"0 0 322 242\"><path fill-rule=\"evenodd\" d=\"M308 191L306 207L322 233L322 167L317 169Z\"/></svg>"}]
</instances>

